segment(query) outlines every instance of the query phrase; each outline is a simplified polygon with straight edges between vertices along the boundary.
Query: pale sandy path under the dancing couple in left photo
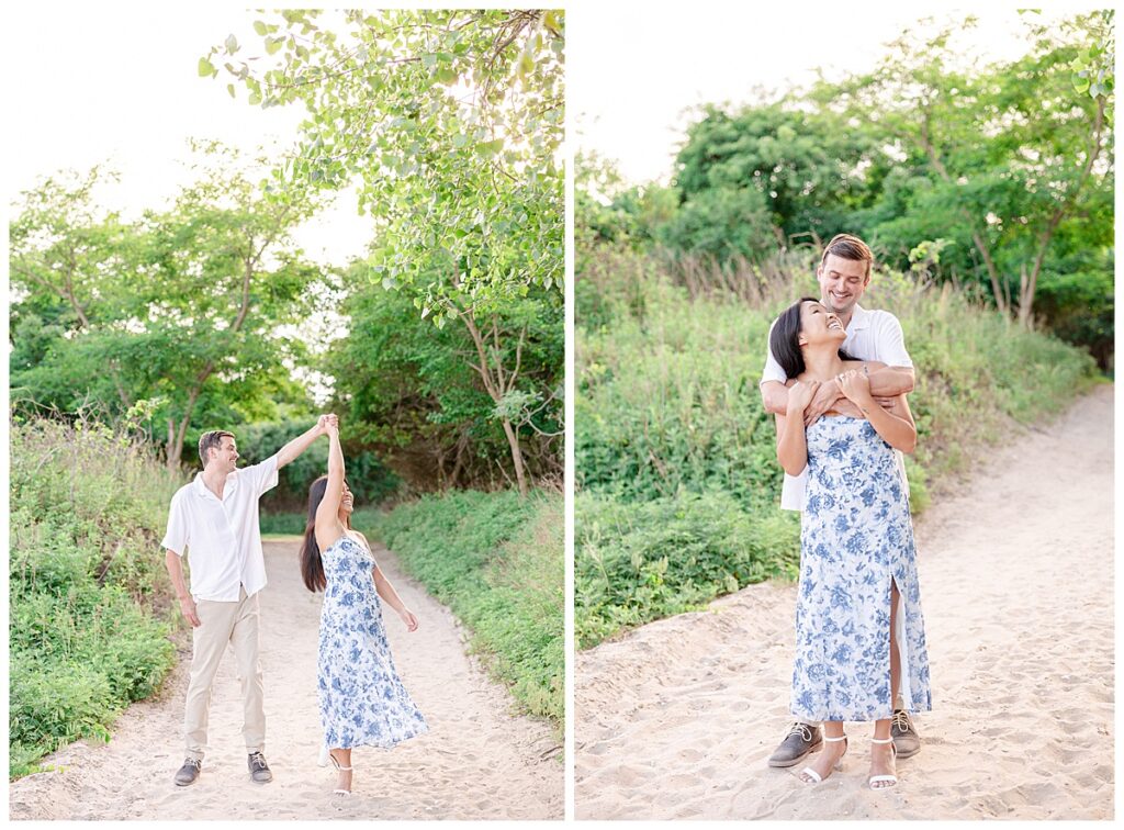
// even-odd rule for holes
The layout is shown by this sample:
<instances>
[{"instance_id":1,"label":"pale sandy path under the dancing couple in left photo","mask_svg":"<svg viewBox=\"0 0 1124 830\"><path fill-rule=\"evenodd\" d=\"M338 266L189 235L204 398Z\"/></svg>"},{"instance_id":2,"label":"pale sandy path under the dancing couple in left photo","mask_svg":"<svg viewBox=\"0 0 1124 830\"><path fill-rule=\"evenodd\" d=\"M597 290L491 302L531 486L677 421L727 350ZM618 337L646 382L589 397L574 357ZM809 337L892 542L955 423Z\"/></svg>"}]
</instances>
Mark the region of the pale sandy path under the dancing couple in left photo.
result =
<instances>
[{"instance_id":1,"label":"pale sandy path under the dancing couple in left photo","mask_svg":"<svg viewBox=\"0 0 1124 830\"><path fill-rule=\"evenodd\" d=\"M308 593L296 544L266 543L270 584L262 594L265 757L273 782L250 781L234 658L224 657L210 713L211 748L199 782L176 787L183 763L184 666L163 700L138 703L106 746L74 743L40 773L9 785L12 819L552 819L563 815L562 765L543 758L555 741L540 722L515 715L511 697L464 655L453 615L402 575L393 556L375 557L420 619L413 634L397 615L387 633L399 673L430 732L393 750L353 755L355 794L333 799L335 774L317 766L316 640L320 595ZM190 655L185 655L190 659Z\"/></svg>"}]
</instances>

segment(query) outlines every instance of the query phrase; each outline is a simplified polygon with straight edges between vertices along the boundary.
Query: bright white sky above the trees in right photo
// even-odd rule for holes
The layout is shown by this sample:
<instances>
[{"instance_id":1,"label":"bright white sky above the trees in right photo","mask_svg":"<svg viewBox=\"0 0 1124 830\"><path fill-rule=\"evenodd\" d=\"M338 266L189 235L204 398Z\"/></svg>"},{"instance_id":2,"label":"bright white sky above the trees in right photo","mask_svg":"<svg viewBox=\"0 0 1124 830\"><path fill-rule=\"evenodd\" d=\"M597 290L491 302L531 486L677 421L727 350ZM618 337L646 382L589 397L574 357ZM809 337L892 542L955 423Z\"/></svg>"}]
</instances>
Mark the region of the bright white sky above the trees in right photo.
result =
<instances>
[{"instance_id":1,"label":"bright white sky above the trees in right photo","mask_svg":"<svg viewBox=\"0 0 1124 830\"><path fill-rule=\"evenodd\" d=\"M975 10L966 39L984 58L1025 48L1014 6ZM1102 4L1102 8L1104 4ZM1045 3L1054 19L1090 4ZM659 9L656 12L655 9ZM754 88L782 91L815 80L873 69L882 44L925 17L963 19L948 2L575 4L568 13L568 106L577 148L616 160L626 179L667 183L701 103L749 103Z\"/></svg>"}]
</instances>

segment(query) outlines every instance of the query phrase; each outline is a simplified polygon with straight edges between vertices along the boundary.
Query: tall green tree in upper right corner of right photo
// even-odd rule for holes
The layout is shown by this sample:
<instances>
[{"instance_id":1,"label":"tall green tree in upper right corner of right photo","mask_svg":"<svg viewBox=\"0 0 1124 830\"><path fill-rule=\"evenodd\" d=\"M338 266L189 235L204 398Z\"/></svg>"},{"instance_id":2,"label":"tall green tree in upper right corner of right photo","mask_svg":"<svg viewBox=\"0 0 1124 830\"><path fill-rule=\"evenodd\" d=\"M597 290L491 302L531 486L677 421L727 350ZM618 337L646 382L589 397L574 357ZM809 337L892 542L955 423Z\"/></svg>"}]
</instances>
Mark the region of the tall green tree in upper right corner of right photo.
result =
<instances>
[{"instance_id":1,"label":"tall green tree in upper right corner of right photo","mask_svg":"<svg viewBox=\"0 0 1124 830\"><path fill-rule=\"evenodd\" d=\"M1112 27L1112 12L1052 26L1028 17L1028 51L985 67L964 64L960 26L907 31L873 72L815 90L814 100L868 125L905 164L888 187L899 209L876 209L887 218L872 236L905 250L958 240L997 307L1032 325L1064 226L1085 226L1098 250L1111 244L1112 75L1094 65L1114 51ZM1079 91L1076 71L1096 80Z\"/></svg>"}]
</instances>

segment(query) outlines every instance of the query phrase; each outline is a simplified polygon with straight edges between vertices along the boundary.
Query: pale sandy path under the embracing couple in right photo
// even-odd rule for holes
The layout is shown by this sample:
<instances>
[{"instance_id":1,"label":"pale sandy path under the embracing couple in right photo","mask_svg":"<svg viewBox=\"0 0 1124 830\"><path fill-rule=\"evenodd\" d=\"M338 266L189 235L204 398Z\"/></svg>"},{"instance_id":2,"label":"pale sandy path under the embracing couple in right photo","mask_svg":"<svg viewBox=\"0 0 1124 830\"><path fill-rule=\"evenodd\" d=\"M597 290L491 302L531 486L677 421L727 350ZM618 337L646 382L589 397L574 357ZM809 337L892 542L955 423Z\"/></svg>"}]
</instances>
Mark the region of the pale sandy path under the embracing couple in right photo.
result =
<instances>
[{"instance_id":1,"label":"pale sandy path under the embracing couple in right photo","mask_svg":"<svg viewBox=\"0 0 1124 830\"><path fill-rule=\"evenodd\" d=\"M864 787L869 724L817 787L765 765L796 602L767 584L578 656L577 817L1112 819L1112 424L1100 387L918 524L934 711L895 791Z\"/></svg>"}]
</instances>

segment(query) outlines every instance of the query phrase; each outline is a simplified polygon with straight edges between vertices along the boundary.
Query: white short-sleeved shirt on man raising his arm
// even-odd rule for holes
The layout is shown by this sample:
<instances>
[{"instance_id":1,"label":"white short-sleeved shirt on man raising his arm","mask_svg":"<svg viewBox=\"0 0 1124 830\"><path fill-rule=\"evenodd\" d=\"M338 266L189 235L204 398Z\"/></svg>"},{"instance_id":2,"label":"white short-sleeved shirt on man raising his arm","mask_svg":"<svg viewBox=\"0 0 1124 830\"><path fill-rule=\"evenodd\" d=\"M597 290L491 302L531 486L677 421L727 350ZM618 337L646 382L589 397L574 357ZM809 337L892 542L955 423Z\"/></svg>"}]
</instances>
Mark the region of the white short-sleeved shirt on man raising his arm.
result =
<instances>
[{"instance_id":1,"label":"white short-sleeved shirt on man raising his arm","mask_svg":"<svg viewBox=\"0 0 1124 830\"><path fill-rule=\"evenodd\" d=\"M187 547L196 599L237 602L239 587L247 596L265 587L257 499L277 482L272 455L227 476L221 499L207 489L201 472L172 496L161 545L181 557Z\"/></svg>"}]
</instances>

